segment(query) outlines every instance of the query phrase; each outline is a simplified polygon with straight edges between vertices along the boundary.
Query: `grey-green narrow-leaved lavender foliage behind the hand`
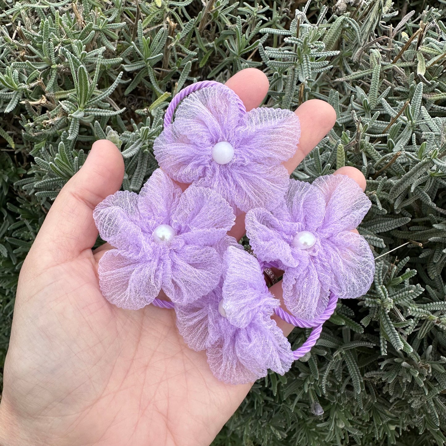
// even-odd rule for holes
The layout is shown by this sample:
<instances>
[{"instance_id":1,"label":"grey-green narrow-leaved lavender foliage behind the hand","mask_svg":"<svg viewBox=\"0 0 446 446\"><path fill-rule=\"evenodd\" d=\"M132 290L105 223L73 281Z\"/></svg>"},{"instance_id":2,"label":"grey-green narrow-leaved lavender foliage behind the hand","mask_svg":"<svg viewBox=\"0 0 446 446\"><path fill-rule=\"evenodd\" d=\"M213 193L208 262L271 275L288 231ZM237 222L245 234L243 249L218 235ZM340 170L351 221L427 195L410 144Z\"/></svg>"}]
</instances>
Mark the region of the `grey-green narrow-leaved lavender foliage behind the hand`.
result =
<instances>
[{"instance_id":1,"label":"grey-green narrow-leaved lavender foliage behind the hand","mask_svg":"<svg viewBox=\"0 0 446 446\"><path fill-rule=\"evenodd\" d=\"M169 99L258 67L265 104L335 108L334 129L293 176L362 170L373 205L359 232L376 276L287 375L254 385L215 445L446 441L446 12L424 0L414 11L325 3L0 0L1 362L21 264L91 144L120 148L123 188L137 191L157 167Z\"/></svg>"}]
</instances>

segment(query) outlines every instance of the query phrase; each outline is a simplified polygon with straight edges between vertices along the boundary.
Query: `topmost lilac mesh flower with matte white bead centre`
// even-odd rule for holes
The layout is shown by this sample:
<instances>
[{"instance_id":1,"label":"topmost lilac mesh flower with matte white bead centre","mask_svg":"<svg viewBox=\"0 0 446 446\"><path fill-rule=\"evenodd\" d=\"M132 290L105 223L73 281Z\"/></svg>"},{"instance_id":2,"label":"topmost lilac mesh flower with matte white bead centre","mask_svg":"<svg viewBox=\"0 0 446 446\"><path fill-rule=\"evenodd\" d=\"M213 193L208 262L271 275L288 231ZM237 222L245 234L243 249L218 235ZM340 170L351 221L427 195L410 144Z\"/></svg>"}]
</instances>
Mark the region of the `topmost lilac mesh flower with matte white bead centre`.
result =
<instances>
[{"instance_id":1,"label":"topmost lilac mesh flower with matte white bead centre","mask_svg":"<svg viewBox=\"0 0 446 446\"><path fill-rule=\"evenodd\" d=\"M175 120L155 140L161 168L174 180L210 187L241 211L270 209L285 194L282 161L296 151L297 116L279 108L242 111L224 85L187 96Z\"/></svg>"}]
</instances>

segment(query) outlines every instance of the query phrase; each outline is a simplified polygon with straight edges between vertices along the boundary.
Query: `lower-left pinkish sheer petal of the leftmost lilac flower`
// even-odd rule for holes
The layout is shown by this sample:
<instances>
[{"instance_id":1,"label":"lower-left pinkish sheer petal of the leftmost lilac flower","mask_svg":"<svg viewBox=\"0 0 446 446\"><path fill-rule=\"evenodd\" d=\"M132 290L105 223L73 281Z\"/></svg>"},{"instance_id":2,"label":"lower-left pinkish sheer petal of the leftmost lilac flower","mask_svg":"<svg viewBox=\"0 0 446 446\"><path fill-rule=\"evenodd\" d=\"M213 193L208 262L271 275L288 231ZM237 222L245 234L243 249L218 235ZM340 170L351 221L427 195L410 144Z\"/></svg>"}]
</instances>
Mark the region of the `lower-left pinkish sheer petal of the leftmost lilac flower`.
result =
<instances>
[{"instance_id":1,"label":"lower-left pinkish sheer petal of the leftmost lilac flower","mask_svg":"<svg viewBox=\"0 0 446 446\"><path fill-rule=\"evenodd\" d=\"M99 287L110 303L128 310L149 305L161 290L161 268L156 259L144 262L107 251L99 260Z\"/></svg>"}]
</instances>

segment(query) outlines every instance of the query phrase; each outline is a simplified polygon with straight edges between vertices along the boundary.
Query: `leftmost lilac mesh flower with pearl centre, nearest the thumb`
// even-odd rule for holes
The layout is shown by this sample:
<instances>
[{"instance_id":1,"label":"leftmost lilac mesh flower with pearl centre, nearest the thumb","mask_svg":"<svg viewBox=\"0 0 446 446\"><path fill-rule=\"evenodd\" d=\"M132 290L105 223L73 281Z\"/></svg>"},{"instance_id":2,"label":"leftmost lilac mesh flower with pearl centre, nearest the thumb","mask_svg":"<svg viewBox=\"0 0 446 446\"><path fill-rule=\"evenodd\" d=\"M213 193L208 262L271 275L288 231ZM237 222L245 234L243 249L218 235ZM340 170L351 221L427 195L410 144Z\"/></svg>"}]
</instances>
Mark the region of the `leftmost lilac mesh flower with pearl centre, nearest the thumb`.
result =
<instances>
[{"instance_id":1,"label":"leftmost lilac mesh flower with pearl centre, nearest the thumb","mask_svg":"<svg viewBox=\"0 0 446 446\"><path fill-rule=\"evenodd\" d=\"M139 195L118 191L93 216L115 247L99 261L99 285L111 303L136 310L161 289L173 302L191 302L219 283L222 258L213 246L235 216L213 190L190 186L182 193L157 169Z\"/></svg>"}]
</instances>

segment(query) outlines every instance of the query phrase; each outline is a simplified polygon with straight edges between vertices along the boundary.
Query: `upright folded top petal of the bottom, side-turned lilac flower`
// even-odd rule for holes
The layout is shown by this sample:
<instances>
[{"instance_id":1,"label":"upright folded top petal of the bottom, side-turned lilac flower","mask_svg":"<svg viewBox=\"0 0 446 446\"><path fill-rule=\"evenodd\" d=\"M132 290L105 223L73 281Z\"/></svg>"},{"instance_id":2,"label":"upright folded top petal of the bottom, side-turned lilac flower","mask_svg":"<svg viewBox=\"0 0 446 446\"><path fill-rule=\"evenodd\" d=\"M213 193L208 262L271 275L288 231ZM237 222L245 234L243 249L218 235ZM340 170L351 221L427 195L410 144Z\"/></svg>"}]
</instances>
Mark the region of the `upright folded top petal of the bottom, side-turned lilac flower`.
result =
<instances>
[{"instance_id":1,"label":"upright folded top petal of the bottom, side-turned lilac flower","mask_svg":"<svg viewBox=\"0 0 446 446\"><path fill-rule=\"evenodd\" d=\"M227 320L244 328L260 313L273 314L280 306L268 291L259 262L246 251L231 247L223 258L223 302Z\"/></svg>"}]
</instances>

